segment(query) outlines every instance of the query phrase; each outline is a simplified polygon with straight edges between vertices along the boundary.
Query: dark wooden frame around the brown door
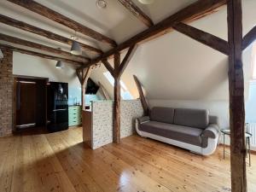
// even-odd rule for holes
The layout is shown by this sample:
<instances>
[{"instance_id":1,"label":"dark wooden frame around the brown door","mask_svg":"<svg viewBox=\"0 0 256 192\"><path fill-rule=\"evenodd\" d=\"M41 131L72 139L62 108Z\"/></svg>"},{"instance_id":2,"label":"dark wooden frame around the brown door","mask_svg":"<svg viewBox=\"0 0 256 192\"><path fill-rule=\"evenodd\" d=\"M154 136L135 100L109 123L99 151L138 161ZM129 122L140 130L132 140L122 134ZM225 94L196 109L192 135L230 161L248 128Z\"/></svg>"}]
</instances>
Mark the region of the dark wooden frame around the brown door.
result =
<instances>
[{"instance_id":1,"label":"dark wooden frame around the brown door","mask_svg":"<svg viewBox=\"0 0 256 192\"><path fill-rule=\"evenodd\" d=\"M42 77L33 77L33 76L26 76L26 75L13 75L14 77L14 84L13 84L13 132L16 131L16 100L17 100L17 79L24 78L24 79L39 79L45 81L45 127L47 125L47 84L49 82L49 78L42 78Z\"/></svg>"}]
</instances>

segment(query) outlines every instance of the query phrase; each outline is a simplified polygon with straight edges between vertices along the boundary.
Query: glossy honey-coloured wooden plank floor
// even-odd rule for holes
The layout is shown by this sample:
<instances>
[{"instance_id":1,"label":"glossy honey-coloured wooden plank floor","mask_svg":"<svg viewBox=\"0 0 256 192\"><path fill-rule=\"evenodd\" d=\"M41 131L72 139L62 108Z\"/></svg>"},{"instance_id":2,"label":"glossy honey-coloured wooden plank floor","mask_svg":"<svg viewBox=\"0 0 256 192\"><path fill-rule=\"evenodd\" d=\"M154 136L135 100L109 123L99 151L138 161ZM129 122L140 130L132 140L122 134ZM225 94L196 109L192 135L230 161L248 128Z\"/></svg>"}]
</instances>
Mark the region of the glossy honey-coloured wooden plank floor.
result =
<instances>
[{"instance_id":1,"label":"glossy honey-coloured wooden plank floor","mask_svg":"<svg viewBox=\"0 0 256 192\"><path fill-rule=\"evenodd\" d=\"M230 191L230 160L143 137L126 137L92 151L82 129L0 138L1 192ZM247 169L256 191L256 155Z\"/></svg>"}]
</instances>

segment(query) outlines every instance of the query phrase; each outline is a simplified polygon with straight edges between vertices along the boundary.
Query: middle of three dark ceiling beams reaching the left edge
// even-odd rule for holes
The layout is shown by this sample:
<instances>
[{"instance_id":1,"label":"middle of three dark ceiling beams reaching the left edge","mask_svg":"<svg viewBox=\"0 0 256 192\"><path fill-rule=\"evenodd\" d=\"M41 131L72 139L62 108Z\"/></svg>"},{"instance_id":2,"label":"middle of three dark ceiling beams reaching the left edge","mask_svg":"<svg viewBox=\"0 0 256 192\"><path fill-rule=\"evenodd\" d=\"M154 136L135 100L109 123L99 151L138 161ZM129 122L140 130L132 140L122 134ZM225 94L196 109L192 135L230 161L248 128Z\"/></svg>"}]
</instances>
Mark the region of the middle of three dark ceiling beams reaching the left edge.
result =
<instances>
[{"instance_id":1,"label":"middle of three dark ceiling beams reaching the left edge","mask_svg":"<svg viewBox=\"0 0 256 192\"><path fill-rule=\"evenodd\" d=\"M52 54L57 54L57 55L62 55L62 56L67 56L71 59L73 59L74 61L80 61L80 62L86 62L86 61L90 61L90 58L81 56L81 55L72 55L71 53L61 50L61 49L55 49L43 44L37 44L31 41L26 41L24 39L21 38L15 38L3 33L0 33L0 40L12 43L12 44L20 44L22 46L26 46L26 47L30 47L32 49L40 49L40 50L44 50L47 51L49 53Z\"/></svg>"}]
</instances>

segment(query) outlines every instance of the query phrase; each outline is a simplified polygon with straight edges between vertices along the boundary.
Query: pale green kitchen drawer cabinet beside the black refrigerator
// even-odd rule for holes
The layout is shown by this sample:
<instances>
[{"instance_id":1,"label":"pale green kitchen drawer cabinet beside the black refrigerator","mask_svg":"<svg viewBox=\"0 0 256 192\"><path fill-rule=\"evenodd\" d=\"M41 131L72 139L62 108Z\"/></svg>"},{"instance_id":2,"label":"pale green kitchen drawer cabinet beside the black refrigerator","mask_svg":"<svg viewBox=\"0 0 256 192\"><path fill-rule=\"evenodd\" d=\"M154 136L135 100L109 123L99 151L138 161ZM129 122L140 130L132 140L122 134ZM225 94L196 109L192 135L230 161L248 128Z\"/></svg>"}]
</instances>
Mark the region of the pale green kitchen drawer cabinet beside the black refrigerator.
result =
<instances>
[{"instance_id":1,"label":"pale green kitchen drawer cabinet beside the black refrigerator","mask_svg":"<svg viewBox=\"0 0 256 192\"><path fill-rule=\"evenodd\" d=\"M82 124L82 107L69 106L68 107L68 126L76 126Z\"/></svg>"}]
</instances>

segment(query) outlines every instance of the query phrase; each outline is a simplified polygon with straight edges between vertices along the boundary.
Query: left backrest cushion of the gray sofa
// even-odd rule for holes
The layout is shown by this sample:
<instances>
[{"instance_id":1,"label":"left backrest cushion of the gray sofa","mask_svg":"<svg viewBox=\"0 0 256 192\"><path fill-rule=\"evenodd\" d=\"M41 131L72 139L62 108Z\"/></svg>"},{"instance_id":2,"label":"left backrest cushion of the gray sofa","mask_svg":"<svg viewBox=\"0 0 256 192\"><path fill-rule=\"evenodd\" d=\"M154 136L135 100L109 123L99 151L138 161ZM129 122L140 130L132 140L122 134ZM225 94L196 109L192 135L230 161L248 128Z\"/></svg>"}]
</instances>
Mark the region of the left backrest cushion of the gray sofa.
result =
<instances>
[{"instance_id":1,"label":"left backrest cushion of the gray sofa","mask_svg":"<svg viewBox=\"0 0 256 192\"><path fill-rule=\"evenodd\" d=\"M174 108L154 107L150 110L150 120L173 124Z\"/></svg>"}]
</instances>

